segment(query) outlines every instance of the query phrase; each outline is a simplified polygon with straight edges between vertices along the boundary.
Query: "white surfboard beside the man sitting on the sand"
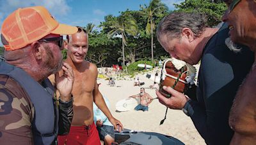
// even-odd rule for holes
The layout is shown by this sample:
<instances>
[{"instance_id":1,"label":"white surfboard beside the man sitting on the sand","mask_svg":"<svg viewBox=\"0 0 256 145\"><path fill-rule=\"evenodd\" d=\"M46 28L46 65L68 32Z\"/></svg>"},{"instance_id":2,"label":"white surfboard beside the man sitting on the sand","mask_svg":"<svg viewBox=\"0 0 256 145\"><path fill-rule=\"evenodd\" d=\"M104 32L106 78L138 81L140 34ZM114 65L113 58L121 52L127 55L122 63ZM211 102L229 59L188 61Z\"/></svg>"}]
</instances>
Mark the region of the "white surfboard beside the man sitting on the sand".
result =
<instances>
[{"instance_id":1,"label":"white surfboard beside the man sitting on the sand","mask_svg":"<svg viewBox=\"0 0 256 145\"><path fill-rule=\"evenodd\" d=\"M116 111L131 111L140 103L140 100L134 98L122 99L116 102Z\"/></svg>"}]
</instances>

